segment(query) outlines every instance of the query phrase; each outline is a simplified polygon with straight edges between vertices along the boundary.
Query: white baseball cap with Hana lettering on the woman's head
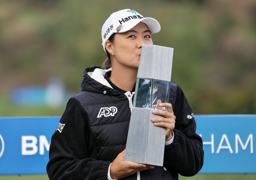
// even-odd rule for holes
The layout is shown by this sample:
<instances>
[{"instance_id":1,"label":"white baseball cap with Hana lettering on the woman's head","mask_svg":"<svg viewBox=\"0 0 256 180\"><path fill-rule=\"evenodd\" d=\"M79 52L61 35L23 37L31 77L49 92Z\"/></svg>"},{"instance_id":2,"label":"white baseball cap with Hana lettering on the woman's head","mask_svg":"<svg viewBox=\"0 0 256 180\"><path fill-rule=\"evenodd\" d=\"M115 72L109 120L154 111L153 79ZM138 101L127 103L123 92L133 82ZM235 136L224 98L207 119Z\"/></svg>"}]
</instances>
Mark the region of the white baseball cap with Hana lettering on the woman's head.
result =
<instances>
[{"instance_id":1,"label":"white baseball cap with Hana lettering on the woman's head","mask_svg":"<svg viewBox=\"0 0 256 180\"><path fill-rule=\"evenodd\" d=\"M141 14L132 9L124 9L112 13L101 29L102 46L104 51L105 42L113 33L129 31L139 22L145 23L151 33L157 33L161 30L161 26L156 19L144 18Z\"/></svg>"}]
</instances>

